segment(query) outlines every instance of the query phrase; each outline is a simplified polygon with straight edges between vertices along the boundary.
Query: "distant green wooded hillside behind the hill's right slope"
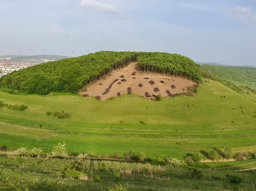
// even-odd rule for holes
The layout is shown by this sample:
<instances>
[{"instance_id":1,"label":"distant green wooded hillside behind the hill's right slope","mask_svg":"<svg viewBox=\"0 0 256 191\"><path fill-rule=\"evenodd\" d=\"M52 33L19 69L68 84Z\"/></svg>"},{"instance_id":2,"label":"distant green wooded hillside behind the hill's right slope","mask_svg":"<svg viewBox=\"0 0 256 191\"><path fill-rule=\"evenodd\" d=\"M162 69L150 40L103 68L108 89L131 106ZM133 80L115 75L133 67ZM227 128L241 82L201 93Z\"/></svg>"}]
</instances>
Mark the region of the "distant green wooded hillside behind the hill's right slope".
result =
<instances>
[{"instance_id":1,"label":"distant green wooded hillside behind the hill's right slope","mask_svg":"<svg viewBox=\"0 0 256 191\"><path fill-rule=\"evenodd\" d=\"M204 64L201 68L206 72L219 76L223 79L233 81L233 83L244 87L256 89L256 68L246 68L237 66L215 66Z\"/></svg>"}]
</instances>

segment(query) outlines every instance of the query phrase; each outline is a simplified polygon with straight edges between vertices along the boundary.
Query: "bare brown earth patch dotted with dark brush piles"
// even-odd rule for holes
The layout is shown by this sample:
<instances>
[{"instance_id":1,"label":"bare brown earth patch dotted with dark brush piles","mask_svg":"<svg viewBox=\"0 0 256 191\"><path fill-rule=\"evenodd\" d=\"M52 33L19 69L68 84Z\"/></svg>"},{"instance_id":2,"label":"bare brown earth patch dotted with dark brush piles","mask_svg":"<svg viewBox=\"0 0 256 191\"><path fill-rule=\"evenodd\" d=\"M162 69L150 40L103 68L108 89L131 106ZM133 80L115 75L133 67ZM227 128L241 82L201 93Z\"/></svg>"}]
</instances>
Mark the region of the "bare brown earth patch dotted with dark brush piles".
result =
<instances>
[{"instance_id":1,"label":"bare brown earth patch dotted with dark brush piles","mask_svg":"<svg viewBox=\"0 0 256 191\"><path fill-rule=\"evenodd\" d=\"M139 72L136 70L136 64L131 63L126 68L113 71L111 75L86 87L80 94L84 97L94 96L98 100L106 100L132 92L150 99L159 93L162 97L187 93L190 87L196 85L193 81L181 77Z\"/></svg>"}]
</instances>

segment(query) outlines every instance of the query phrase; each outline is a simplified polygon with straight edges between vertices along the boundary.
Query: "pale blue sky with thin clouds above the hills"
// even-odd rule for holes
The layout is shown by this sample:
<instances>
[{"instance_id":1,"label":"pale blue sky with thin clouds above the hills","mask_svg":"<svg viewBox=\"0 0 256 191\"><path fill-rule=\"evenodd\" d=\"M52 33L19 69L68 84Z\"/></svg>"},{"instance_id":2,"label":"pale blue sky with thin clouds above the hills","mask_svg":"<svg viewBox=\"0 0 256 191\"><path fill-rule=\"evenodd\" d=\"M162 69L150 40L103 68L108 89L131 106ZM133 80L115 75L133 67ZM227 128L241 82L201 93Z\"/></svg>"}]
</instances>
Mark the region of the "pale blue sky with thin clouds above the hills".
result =
<instances>
[{"instance_id":1,"label":"pale blue sky with thin clouds above the hills","mask_svg":"<svg viewBox=\"0 0 256 191\"><path fill-rule=\"evenodd\" d=\"M0 0L0 55L178 53L256 66L255 0Z\"/></svg>"}]
</instances>

